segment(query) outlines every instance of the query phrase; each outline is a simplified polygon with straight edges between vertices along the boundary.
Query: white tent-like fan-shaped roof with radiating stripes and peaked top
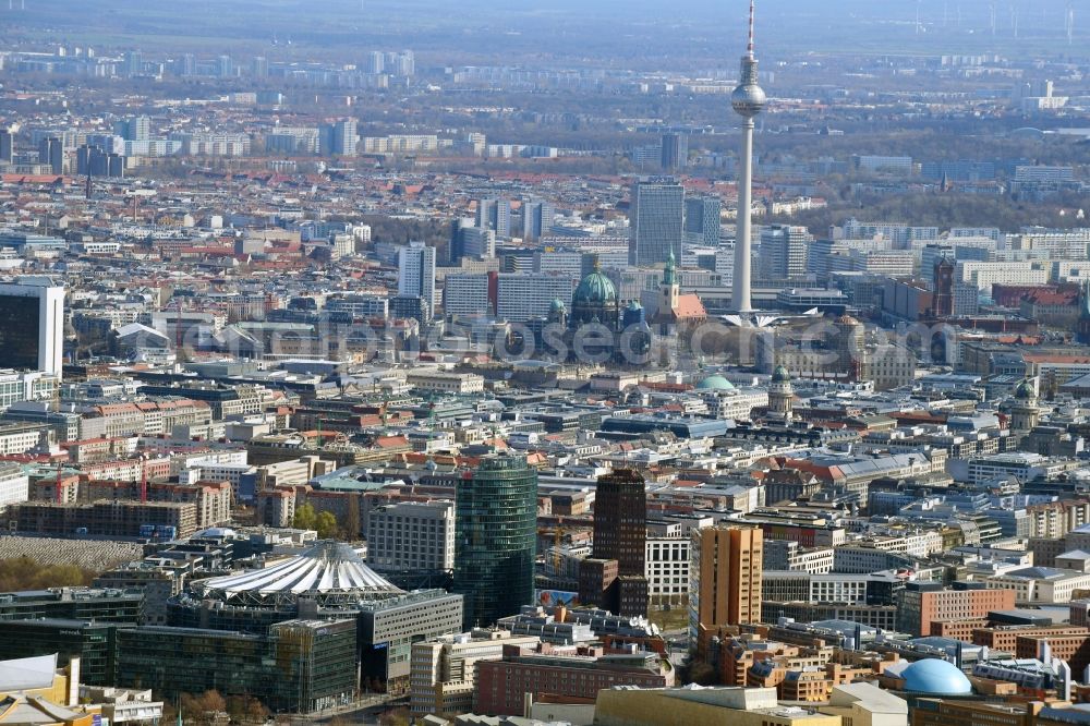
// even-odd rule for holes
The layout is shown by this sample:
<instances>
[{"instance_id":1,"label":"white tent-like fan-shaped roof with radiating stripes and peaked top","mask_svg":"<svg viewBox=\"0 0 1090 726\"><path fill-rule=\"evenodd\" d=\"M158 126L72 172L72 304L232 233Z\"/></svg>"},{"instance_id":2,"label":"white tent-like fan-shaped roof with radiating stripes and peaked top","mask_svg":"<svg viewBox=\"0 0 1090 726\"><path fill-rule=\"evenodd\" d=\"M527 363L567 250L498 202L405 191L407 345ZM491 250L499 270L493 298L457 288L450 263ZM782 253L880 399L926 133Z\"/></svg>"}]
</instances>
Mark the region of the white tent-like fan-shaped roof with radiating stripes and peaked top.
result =
<instances>
[{"instance_id":1,"label":"white tent-like fan-shaped roof with radiating stripes and peaked top","mask_svg":"<svg viewBox=\"0 0 1090 726\"><path fill-rule=\"evenodd\" d=\"M194 582L193 589L204 597L222 600L307 596L324 601L402 592L367 567L351 546L331 541L272 567Z\"/></svg>"}]
</instances>

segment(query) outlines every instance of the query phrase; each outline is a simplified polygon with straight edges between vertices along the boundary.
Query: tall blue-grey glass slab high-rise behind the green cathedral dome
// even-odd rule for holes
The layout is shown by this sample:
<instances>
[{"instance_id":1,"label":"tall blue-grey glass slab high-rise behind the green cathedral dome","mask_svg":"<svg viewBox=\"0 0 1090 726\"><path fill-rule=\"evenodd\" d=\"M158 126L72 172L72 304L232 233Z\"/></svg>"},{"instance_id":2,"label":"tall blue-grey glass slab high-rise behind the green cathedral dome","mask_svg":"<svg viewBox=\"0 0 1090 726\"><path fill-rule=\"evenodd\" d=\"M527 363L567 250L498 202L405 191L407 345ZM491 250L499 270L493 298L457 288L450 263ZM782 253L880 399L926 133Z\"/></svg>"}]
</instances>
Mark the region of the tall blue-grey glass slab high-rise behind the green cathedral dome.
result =
<instances>
[{"instance_id":1,"label":"tall blue-grey glass slab high-rise behind the green cathedral dome","mask_svg":"<svg viewBox=\"0 0 1090 726\"><path fill-rule=\"evenodd\" d=\"M670 252L680 254L685 187L673 177L654 177L632 184L629 206L628 262L658 265Z\"/></svg>"}]
</instances>

